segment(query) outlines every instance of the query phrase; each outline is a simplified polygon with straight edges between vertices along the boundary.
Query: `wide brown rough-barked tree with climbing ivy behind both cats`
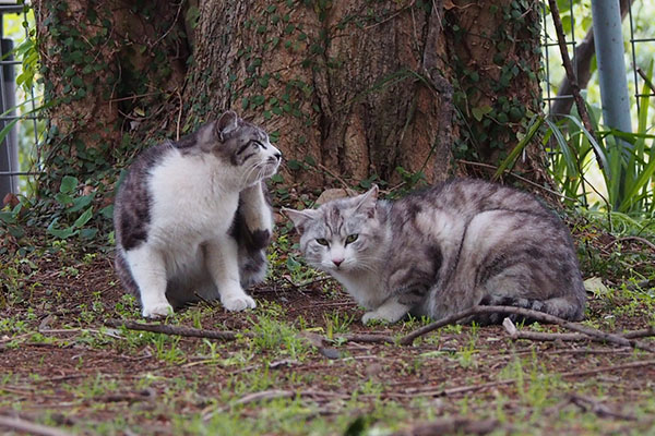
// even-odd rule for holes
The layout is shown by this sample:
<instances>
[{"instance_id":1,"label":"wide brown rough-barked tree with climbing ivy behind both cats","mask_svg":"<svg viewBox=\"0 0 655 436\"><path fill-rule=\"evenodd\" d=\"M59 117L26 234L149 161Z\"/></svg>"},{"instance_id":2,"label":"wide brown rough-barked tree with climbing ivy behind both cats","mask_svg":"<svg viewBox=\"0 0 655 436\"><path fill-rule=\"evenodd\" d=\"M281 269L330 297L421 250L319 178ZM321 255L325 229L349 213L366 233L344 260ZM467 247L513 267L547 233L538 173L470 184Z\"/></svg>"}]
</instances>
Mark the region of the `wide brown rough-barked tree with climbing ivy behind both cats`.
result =
<instances>
[{"instance_id":1,"label":"wide brown rough-barked tree with climbing ivy behind both cats","mask_svg":"<svg viewBox=\"0 0 655 436\"><path fill-rule=\"evenodd\" d=\"M67 7L52 7L60 3ZM71 65L48 17L84 23L86 36L107 35L93 48L106 68L73 65L95 86L52 107L50 117L66 141L110 154L126 133L175 137L231 108L278 141L288 182L398 182L417 172L441 180L466 169L454 158L497 164L526 117L539 111L538 2L489 3L38 1L39 50L53 96L66 95ZM192 61L184 63L189 41ZM166 75L157 74L162 57ZM140 75L140 66L148 73ZM156 96L143 97L148 93ZM80 119L91 123L80 129ZM543 179L537 146L524 168Z\"/></svg>"}]
</instances>

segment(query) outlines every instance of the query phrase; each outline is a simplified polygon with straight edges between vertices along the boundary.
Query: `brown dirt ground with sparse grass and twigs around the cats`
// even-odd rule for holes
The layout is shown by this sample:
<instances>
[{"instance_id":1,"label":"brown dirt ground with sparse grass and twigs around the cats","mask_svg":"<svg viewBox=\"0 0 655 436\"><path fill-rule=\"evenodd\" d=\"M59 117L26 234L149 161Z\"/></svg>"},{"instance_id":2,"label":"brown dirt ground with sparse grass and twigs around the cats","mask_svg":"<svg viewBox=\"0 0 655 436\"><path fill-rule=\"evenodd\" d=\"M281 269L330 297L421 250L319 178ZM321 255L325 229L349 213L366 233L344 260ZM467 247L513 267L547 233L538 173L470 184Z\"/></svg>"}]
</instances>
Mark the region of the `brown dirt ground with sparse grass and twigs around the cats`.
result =
<instances>
[{"instance_id":1,"label":"brown dirt ground with sparse grass and twigs around the cats","mask_svg":"<svg viewBox=\"0 0 655 436\"><path fill-rule=\"evenodd\" d=\"M23 434L17 423L40 425L28 434L655 434L655 356L631 347L475 325L407 347L346 340L427 320L365 327L331 280L275 274L252 291L254 311L200 304L167 320L245 334L236 340L134 331L107 324L141 322L110 254L69 246L3 262L2 434ZM585 325L653 325L650 286L590 293Z\"/></svg>"}]
</instances>

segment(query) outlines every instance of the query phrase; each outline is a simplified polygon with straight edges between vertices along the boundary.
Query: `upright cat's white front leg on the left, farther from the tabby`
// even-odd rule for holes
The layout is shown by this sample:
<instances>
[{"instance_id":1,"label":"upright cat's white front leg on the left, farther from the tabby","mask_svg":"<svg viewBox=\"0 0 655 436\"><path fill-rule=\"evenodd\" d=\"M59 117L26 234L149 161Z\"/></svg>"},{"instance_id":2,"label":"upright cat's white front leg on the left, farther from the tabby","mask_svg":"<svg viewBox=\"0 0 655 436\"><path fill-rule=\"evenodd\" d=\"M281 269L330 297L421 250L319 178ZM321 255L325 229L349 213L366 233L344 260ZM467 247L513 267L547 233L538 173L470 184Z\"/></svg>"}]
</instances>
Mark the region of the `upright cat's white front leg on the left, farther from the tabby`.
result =
<instances>
[{"instance_id":1,"label":"upright cat's white front leg on the left, farther from the tabby","mask_svg":"<svg viewBox=\"0 0 655 436\"><path fill-rule=\"evenodd\" d=\"M166 299L166 265L162 253L143 244L126 252L132 277L139 286L142 314L157 318L172 313Z\"/></svg>"}]
</instances>

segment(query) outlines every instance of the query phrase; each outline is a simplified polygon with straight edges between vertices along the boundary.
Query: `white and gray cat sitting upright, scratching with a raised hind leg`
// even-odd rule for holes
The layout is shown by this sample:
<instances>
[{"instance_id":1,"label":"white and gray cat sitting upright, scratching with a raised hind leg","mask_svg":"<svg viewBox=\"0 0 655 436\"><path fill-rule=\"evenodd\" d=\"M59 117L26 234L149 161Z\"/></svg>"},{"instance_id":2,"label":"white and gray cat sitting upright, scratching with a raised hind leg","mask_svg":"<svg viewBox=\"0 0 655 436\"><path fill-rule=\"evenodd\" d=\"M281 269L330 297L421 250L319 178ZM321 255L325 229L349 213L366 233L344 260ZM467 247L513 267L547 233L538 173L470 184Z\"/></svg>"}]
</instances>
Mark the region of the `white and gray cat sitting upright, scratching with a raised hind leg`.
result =
<instances>
[{"instance_id":1,"label":"white and gray cat sitting upright, scratching with a raised hind leg","mask_svg":"<svg viewBox=\"0 0 655 436\"><path fill-rule=\"evenodd\" d=\"M254 307L273 218L263 180L282 154L269 135L225 112L195 133L144 150L115 202L116 271L145 317L199 299Z\"/></svg>"}]
</instances>

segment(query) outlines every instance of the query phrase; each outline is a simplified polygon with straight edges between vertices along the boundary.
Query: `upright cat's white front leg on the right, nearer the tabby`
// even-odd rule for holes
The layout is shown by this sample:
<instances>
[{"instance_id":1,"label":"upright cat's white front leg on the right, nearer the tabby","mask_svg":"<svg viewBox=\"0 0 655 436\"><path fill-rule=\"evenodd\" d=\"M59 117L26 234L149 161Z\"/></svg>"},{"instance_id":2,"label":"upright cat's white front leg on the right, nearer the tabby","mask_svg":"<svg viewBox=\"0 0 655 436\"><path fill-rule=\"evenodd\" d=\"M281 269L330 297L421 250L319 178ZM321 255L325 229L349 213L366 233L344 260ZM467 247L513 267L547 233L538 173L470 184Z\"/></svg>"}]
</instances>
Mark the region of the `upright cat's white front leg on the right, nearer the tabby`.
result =
<instances>
[{"instance_id":1,"label":"upright cat's white front leg on the right, nearer the tabby","mask_svg":"<svg viewBox=\"0 0 655 436\"><path fill-rule=\"evenodd\" d=\"M228 311L243 311L257 306L239 281L237 242L229 238L219 238L206 244L207 269L221 294L221 303Z\"/></svg>"}]
</instances>

